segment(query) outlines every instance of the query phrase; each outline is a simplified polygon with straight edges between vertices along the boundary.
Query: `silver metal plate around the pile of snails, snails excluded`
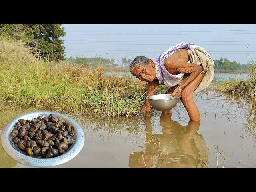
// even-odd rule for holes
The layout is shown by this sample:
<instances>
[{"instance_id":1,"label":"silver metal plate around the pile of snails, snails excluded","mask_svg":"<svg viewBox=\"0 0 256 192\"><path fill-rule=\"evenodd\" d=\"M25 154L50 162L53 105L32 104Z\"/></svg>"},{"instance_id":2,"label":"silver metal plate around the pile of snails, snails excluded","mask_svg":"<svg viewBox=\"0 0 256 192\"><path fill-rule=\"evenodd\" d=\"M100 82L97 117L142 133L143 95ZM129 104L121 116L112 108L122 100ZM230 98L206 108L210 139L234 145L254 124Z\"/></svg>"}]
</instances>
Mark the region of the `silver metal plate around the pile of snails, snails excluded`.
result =
<instances>
[{"instance_id":1,"label":"silver metal plate around the pile of snails, snails excluded","mask_svg":"<svg viewBox=\"0 0 256 192\"><path fill-rule=\"evenodd\" d=\"M54 158L44 158L42 156L28 156L25 151L20 150L17 144L13 142L14 137L11 134L12 130L15 129L18 119L32 120L33 118L36 118L38 116L47 117L51 113L56 115L61 120L65 120L66 122L71 123L72 130L71 132L69 132L68 139L72 140L73 144L69 146L68 150L64 154L61 154ZM1 142L6 153L22 164L36 167L55 166L71 160L82 150L84 146L84 132L82 128L78 125L78 123L76 123L72 118L64 114L50 111L35 111L25 113L17 116L16 118L13 118L3 128L1 134Z\"/></svg>"}]
</instances>

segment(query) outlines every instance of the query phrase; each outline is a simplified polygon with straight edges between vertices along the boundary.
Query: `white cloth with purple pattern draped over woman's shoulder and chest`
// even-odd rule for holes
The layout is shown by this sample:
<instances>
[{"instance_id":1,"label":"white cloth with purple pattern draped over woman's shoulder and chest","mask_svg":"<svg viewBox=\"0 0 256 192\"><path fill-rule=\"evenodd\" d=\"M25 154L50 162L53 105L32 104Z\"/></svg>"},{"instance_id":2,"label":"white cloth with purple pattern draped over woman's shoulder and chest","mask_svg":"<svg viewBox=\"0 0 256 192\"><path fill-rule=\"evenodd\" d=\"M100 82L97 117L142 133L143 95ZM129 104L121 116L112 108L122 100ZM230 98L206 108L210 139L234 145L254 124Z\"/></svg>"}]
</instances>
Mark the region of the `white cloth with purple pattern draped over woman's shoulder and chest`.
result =
<instances>
[{"instance_id":1,"label":"white cloth with purple pattern draped over woman's shoulder and chest","mask_svg":"<svg viewBox=\"0 0 256 192\"><path fill-rule=\"evenodd\" d=\"M155 66L156 66L156 77L159 80L160 85L164 85L164 77L174 81L175 82L174 86L178 84L180 80L182 80L184 73L180 73L178 75L170 74L164 66L164 59L170 56L172 53L174 53L177 50L184 49L184 48L186 48L187 50L190 49L190 45L194 45L194 44L186 43L186 42L179 43L175 46L172 46L166 52L164 52L162 55L158 57L158 60L155 62Z\"/></svg>"}]
</instances>

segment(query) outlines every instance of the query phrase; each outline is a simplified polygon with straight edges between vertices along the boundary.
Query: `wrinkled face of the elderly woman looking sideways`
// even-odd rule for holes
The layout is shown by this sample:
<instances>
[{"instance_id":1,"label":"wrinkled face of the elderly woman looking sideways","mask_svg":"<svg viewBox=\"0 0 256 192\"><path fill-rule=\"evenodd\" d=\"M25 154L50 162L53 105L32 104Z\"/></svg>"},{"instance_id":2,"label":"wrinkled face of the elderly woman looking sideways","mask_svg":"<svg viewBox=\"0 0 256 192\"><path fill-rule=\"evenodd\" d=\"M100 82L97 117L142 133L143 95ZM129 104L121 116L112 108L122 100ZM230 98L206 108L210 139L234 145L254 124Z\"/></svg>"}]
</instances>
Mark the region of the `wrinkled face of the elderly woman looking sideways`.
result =
<instances>
[{"instance_id":1,"label":"wrinkled face of the elderly woman looking sideways","mask_svg":"<svg viewBox=\"0 0 256 192\"><path fill-rule=\"evenodd\" d=\"M134 67L133 75L136 76L141 81L152 82L156 78L155 72L155 64L154 62L149 59L149 65L140 64L137 67Z\"/></svg>"}]
</instances>

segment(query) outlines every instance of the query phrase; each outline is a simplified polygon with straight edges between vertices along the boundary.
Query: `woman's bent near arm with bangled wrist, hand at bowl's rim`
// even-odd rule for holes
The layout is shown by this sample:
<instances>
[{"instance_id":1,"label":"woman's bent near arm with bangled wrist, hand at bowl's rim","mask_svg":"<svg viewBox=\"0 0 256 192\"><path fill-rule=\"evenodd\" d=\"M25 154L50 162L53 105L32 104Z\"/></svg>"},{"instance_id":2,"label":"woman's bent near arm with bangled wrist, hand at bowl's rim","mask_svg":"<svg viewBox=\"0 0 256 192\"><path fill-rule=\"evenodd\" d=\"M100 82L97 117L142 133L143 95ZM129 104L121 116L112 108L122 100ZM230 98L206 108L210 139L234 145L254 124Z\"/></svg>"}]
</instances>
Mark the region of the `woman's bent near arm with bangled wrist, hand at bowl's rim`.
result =
<instances>
[{"instance_id":1,"label":"woman's bent near arm with bangled wrist, hand at bowl's rim","mask_svg":"<svg viewBox=\"0 0 256 192\"><path fill-rule=\"evenodd\" d=\"M199 65L178 61L172 58L166 58L166 60L164 60L164 65L167 68L169 67L182 73L190 73L184 84L180 86L181 90L183 90L188 84L194 81L196 77L203 71L203 68ZM177 88L172 93L172 96L175 96L176 94L180 94L180 91Z\"/></svg>"}]
</instances>

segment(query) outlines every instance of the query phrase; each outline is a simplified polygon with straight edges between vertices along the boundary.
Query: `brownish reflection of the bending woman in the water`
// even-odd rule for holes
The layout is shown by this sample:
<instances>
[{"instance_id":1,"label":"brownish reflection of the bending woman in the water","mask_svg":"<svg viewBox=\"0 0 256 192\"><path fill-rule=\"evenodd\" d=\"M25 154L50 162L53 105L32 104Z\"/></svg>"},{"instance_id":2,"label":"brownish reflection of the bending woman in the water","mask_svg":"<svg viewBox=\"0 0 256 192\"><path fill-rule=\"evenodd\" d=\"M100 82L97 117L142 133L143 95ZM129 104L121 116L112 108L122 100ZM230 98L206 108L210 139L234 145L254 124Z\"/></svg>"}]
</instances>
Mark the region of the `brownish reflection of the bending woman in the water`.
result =
<instances>
[{"instance_id":1,"label":"brownish reflection of the bending woman in the water","mask_svg":"<svg viewBox=\"0 0 256 192\"><path fill-rule=\"evenodd\" d=\"M130 167L206 167L210 153L203 136L197 133L199 122L182 126L172 121L171 114L162 114L162 134L153 134L150 116L145 116L145 122L145 150L130 154Z\"/></svg>"}]
</instances>

